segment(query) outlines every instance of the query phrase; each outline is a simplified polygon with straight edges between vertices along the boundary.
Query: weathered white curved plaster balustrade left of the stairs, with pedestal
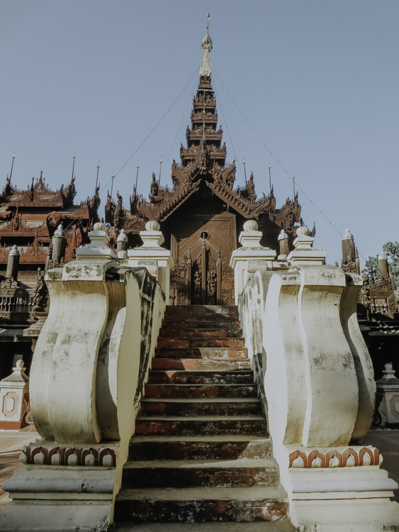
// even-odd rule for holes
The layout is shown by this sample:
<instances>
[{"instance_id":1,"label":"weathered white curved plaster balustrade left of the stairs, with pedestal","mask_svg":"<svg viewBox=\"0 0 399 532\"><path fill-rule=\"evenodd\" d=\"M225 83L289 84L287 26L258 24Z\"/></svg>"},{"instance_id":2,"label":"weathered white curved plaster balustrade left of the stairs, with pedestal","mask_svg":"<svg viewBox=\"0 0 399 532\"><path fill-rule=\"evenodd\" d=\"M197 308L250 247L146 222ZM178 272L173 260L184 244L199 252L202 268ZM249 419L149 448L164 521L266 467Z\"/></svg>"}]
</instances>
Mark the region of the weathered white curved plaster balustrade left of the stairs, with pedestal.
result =
<instances>
[{"instance_id":1,"label":"weathered white curved plaster balustrade left of the stairs, with pedestal","mask_svg":"<svg viewBox=\"0 0 399 532\"><path fill-rule=\"evenodd\" d=\"M165 297L145 268L84 257L46 274L50 312L30 373L43 440L24 449L26 465L8 481L0 528L10 532L100 531L112 521Z\"/></svg>"}]
</instances>

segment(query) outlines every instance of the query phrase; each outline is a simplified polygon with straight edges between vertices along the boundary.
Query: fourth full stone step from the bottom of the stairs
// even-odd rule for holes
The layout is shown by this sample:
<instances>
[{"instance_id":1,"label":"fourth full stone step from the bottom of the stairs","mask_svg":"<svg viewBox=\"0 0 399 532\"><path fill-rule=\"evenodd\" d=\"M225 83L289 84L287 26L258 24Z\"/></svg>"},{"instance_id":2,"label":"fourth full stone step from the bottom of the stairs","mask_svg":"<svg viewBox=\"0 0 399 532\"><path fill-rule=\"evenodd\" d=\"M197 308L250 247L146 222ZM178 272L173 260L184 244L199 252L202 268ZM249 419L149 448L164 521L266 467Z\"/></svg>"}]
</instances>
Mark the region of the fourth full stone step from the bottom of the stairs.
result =
<instances>
[{"instance_id":1,"label":"fourth full stone step from the bottom of the stairs","mask_svg":"<svg viewBox=\"0 0 399 532\"><path fill-rule=\"evenodd\" d=\"M135 423L137 436L216 436L250 434L266 436L264 416L140 416Z\"/></svg>"}]
</instances>

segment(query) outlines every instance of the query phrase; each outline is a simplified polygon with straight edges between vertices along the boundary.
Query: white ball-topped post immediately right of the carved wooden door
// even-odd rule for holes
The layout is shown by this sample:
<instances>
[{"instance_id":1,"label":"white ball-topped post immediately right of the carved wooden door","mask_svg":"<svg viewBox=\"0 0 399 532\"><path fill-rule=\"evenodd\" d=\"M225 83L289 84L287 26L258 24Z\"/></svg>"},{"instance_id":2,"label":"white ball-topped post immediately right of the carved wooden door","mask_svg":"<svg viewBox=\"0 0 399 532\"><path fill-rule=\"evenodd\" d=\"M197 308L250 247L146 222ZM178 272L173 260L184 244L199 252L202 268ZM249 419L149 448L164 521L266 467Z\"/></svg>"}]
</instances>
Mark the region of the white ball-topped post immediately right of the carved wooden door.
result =
<instances>
[{"instance_id":1,"label":"white ball-topped post immediately right of the carved wooden door","mask_svg":"<svg viewBox=\"0 0 399 532\"><path fill-rule=\"evenodd\" d=\"M255 220L247 220L244 224L244 231L240 233L239 242L242 248L232 252L230 259L230 268L234 270L234 290L235 290L235 304L238 304L238 298L242 294L242 290L247 284L249 278L249 262L257 262L258 267L255 269L269 269L271 270L272 261L276 257L276 252L270 248L264 248L260 244L262 232L258 231L258 224ZM262 262L262 266L259 265ZM254 270L252 265L251 270Z\"/></svg>"}]
</instances>

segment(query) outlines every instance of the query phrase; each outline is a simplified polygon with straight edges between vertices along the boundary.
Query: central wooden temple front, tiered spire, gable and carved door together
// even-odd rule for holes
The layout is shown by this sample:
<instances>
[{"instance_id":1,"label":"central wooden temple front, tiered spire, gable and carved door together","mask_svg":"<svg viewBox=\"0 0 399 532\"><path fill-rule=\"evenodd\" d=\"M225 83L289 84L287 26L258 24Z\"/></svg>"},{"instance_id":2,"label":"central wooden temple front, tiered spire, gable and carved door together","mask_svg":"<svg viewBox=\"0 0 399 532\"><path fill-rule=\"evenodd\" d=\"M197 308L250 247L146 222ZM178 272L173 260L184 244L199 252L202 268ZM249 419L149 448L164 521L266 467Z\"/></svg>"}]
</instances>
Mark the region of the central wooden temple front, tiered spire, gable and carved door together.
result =
<instances>
[{"instance_id":1,"label":"central wooden temple front, tiered spire, gable and carved door together","mask_svg":"<svg viewBox=\"0 0 399 532\"><path fill-rule=\"evenodd\" d=\"M232 304L234 276L230 269L232 251L248 218L259 223L262 245L278 249L278 235L284 229L291 241L295 223L300 223L298 195L276 209L271 189L257 198L253 175L245 187L235 184L235 161L225 162L226 146L210 76L201 75L191 111L191 128L186 129L186 147L181 145L180 164L172 164L172 189L160 187L152 174L150 196L144 199L135 189L130 210L115 203L108 194L106 222L116 248L124 228L132 247L140 245L140 231L149 220L157 220L164 233L165 247L172 250L173 304ZM313 229L313 233L315 230Z\"/></svg>"}]
</instances>

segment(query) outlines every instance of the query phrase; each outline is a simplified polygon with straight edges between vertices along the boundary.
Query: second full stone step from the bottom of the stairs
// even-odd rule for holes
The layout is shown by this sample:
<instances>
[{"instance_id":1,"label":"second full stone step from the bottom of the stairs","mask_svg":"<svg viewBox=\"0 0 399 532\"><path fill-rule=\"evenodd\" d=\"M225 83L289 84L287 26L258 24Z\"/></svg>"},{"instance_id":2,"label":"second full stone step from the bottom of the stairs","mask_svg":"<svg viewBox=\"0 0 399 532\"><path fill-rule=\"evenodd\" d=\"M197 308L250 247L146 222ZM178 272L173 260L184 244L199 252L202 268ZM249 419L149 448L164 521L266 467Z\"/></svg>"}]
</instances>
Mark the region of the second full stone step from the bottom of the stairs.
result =
<instances>
[{"instance_id":1,"label":"second full stone step from the bottom of the stairs","mask_svg":"<svg viewBox=\"0 0 399 532\"><path fill-rule=\"evenodd\" d=\"M148 460L126 462L122 489L150 487L276 487L279 470L273 459Z\"/></svg>"}]
</instances>

